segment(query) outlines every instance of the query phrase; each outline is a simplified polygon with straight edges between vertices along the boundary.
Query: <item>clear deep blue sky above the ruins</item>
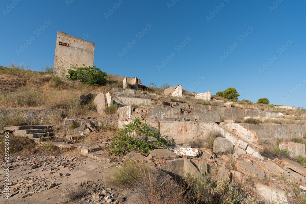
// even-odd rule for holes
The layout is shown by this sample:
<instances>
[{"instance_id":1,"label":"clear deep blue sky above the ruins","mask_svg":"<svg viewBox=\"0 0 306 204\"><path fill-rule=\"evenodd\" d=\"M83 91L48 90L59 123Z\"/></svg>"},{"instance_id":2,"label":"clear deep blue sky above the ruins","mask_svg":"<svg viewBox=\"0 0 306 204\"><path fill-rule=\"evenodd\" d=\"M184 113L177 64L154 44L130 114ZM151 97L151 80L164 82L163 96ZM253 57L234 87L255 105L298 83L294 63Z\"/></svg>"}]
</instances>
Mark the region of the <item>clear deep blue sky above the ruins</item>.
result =
<instances>
[{"instance_id":1,"label":"clear deep blue sky above the ruins","mask_svg":"<svg viewBox=\"0 0 306 204\"><path fill-rule=\"evenodd\" d=\"M59 30L95 43L102 71L145 85L212 95L235 87L240 100L306 107L304 0L2 0L0 8L2 66L52 66Z\"/></svg>"}]
</instances>

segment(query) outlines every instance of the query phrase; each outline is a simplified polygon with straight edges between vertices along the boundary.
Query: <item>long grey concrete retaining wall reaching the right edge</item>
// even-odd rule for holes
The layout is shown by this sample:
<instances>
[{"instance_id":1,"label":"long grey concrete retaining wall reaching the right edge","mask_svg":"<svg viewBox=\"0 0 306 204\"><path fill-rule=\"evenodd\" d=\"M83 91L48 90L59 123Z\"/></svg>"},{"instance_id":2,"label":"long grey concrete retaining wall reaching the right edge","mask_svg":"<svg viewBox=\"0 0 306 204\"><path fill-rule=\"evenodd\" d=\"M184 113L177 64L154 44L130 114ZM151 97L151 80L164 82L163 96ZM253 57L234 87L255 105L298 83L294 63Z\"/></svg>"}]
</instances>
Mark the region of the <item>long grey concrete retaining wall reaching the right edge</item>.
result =
<instances>
[{"instance_id":1,"label":"long grey concrete retaining wall reaching the right edge","mask_svg":"<svg viewBox=\"0 0 306 204\"><path fill-rule=\"evenodd\" d=\"M280 124L248 124L240 123L248 130L254 130L260 139L286 138L303 136L306 134L306 125L280 125Z\"/></svg>"}]
</instances>

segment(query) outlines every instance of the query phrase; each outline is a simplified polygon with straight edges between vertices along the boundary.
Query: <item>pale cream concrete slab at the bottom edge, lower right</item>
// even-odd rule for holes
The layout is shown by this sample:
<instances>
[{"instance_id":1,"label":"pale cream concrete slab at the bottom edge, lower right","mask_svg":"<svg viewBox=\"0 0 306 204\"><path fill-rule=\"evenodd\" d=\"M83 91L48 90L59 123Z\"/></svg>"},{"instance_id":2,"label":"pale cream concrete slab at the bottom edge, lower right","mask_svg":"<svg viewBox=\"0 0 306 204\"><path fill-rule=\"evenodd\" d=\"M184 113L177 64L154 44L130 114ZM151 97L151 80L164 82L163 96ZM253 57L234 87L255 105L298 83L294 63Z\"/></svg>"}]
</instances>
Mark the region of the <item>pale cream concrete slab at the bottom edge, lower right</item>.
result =
<instances>
[{"instance_id":1,"label":"pale cream concrete slab at the bottom edge, lower right","mask_svg":"<svg viewBox=\"0 0 306 204\"><path fill-rule=\"evenodd\" d=\"M285 191L263 184L256 184L255 188L261 198L268 203L288 203Z\"/></svg>"}]
</instances>

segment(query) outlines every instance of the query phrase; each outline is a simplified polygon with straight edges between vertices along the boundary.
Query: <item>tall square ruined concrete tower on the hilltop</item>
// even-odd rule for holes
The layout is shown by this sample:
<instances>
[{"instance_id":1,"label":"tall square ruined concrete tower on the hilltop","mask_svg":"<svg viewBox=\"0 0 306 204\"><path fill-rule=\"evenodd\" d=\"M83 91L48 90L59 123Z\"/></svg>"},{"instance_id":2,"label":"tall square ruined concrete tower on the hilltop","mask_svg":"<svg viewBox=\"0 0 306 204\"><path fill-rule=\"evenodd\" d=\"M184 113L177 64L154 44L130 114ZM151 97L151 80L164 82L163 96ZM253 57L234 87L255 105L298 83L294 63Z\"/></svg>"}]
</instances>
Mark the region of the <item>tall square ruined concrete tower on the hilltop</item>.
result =
<instances>
[{"instance_id":1,"label":"tall square ruined concrete tower on the hilltop","mask_svg":"<svg viewBox=\"0 0 306 204\"><path fill-rule=\"evenodd\" d=\"M94 54L94 43L58 31L54 54L54 69L58 75L67 73L70 65L92 67Z\"/></svg>"}]
</instances>

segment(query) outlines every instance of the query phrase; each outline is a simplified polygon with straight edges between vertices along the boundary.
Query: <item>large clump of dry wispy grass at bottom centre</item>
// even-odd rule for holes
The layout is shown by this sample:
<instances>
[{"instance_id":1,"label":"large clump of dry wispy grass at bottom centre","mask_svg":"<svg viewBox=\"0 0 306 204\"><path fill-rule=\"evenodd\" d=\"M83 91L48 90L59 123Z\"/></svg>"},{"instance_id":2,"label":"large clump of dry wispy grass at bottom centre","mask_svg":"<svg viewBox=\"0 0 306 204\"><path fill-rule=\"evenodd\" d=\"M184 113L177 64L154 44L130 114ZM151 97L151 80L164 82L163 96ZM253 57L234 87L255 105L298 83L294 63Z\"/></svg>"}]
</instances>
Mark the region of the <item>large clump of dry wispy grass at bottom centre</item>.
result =
<instances>
[{"instance_id":1,"label":"large clump of dry wispy grass at bottom centre","mask_svg":"<svg viewBox=\"0 0 306 204\"><path fill-rule=\"evenodd\" d=\"M109 179L121 187L133 187L147 198L149 204L190 203L187 187L176 184L169 177L146 163L131 162Z\"/></svg>"}]
</instances>

